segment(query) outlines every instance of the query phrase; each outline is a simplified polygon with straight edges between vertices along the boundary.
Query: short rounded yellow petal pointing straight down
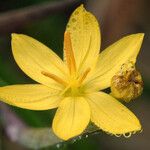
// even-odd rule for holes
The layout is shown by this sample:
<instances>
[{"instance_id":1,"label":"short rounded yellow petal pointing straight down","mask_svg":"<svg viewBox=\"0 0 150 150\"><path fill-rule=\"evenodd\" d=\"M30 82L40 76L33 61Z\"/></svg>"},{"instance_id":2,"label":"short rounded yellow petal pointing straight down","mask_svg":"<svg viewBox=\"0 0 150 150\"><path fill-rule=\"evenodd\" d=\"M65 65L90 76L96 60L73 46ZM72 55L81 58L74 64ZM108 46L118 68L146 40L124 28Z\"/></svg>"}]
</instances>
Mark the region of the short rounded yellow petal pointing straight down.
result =
<instances>
[{"instance_id":1,"label":"short rounded yellow petal pointing straight down","mask_svg":"<svg viewBox=\"0 0 150 150\"><path fill-rule=\"evenodd\" d=\"M82 97L67 97L60 103L53 120L54 133L68 140L83 132L90 120L90 109Z\"/></svg>"}]
</instances>

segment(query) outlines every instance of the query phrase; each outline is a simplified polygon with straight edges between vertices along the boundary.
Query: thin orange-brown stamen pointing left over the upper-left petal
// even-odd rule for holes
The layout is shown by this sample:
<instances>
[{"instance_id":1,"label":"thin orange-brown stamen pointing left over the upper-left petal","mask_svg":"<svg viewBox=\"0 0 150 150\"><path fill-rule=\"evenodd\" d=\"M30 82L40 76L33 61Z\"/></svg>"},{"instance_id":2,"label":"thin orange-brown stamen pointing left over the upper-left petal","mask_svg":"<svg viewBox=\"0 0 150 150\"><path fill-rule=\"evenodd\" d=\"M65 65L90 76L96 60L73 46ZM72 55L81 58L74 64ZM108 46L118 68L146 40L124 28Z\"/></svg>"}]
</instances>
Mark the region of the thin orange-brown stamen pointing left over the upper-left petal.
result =
<instances>
[{"instance_id":1,"label":"thin orange-brown stamen pointing left over the upper-left petal","mask_svg":"<svg viewBox=\"0 0 150 150\"><path fill-rule=\"evenodd\" d=\"M63 84L64 86L67 85L67 82L65 82L64 80L62 80L61 78L59 78L58 76L56 76L54 74L51 74L51 73L45 72L45 71L42 71L41 74L43 74L44 76L49 77L49 78L55 80L56 82L58 82L60 84Z\"/></svg>"}]
</instances>

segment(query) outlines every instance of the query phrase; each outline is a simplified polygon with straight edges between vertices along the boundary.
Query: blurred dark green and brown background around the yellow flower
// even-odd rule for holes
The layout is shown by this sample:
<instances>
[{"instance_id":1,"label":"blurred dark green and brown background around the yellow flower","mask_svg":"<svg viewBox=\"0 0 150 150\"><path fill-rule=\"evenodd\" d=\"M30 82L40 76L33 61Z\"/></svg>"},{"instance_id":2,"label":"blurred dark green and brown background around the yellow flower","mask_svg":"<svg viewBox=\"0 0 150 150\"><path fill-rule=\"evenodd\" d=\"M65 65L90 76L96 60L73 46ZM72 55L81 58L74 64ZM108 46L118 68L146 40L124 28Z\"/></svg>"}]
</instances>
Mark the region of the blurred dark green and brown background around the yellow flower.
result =
<instances>
[{"instance_id":1,"label":"blurred dark green and brown background around the yellow flower","mask_svg":"<svg viewBox=\"0 0 150 150\"><path fill-rule=\"evenodd\" d=\"M143 75L144 92L126 104L140 119L143 132L131 138L116 138L104 132L66 143L64 150L149 150L150 149L150 4L148 0L0 0L0 85L34 83L15 63L11 33L23 33L41 41L62 57L63 33L71 12L81 3L100 21L102 49L124 35L144 32L145 39L137 68ZM20 16L19 16L20 15ZM32 127L49 127L55 110L30 111L11 107L12 112ZM0 125L0 149L27 150L10 140ZM44 149L58 149L56 146Z\"/></svg>"}]
</instances>

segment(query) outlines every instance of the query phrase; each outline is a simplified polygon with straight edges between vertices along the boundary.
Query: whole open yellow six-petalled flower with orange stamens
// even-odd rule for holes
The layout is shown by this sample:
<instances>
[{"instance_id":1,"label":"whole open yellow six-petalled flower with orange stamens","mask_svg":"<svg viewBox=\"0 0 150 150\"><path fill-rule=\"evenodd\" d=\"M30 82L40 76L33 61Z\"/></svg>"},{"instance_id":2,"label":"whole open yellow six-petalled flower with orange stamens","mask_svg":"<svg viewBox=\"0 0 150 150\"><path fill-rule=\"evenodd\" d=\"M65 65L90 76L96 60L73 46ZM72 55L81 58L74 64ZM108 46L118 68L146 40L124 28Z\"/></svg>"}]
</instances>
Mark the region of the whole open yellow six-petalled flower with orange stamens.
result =
<instances>
[{"instance_id":1,"label":"whole open yellow six-petalled flower with orange stamens","mask_svg":"<svg viewBox=\"0 0 150 150\"><path fill-rule=\"evenodd\" d=\"M0 98L31 110L58 107L52 128L64 140L81 134L89 121L114 135L139 131L141 125L136 116L100 90L110 87L122 64L135 64L143 36L126 36L99 54L99 25L83 5L73 12L67 25L64 60L33 38L12 34L17 64L39 84L1 87Z\"/></svg>"}]
</instances>

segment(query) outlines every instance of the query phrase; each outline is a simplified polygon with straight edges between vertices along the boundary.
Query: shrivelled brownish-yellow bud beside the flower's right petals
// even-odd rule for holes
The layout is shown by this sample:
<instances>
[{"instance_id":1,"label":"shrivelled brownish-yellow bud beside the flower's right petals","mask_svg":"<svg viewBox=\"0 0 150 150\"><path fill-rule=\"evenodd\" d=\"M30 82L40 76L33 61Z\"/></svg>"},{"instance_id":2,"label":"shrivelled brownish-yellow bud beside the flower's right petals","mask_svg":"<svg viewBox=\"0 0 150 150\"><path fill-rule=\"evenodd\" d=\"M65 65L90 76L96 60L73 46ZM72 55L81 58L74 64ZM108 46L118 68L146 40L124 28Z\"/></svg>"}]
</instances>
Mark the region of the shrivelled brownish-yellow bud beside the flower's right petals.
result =
<instances>
[{"instance_id":1,"label":"shrivelled brownish-yellow bud beside the flower's right petals","mask_svg":"<svg viewBox=\"0 0 150 150\"><path fill-rule=\"evenodd\" d=\"M143 81L132 62L123 64L121 70L111 79L111 94L117 99L129 102L141 95Z\"/></svg>"}]
</instances>

